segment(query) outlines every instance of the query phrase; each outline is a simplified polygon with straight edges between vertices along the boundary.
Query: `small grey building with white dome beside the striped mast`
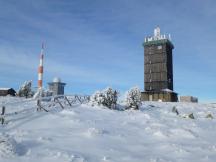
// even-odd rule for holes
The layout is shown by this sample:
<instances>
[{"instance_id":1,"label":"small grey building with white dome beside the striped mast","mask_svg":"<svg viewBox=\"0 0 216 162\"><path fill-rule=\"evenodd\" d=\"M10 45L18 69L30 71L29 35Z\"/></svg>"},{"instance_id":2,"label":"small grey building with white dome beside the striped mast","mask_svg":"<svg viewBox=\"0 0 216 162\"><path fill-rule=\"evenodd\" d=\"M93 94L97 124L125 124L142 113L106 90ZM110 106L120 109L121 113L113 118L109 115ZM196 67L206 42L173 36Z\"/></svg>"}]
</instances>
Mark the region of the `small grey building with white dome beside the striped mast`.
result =
<instances>
[{"instance_id":1,"label":"small grey building with white dome beside the striped mast","mask_svg":"<svg viewBox=\"0 0 216 162\"><path fill-rule=\"evenodd\" d=\"M52 92L52 95L64 95L64 87L66 83L62 83L61 79L56 77L53 79L53 82L48 83L49 91Z\"/></svg>"}]
</instances>

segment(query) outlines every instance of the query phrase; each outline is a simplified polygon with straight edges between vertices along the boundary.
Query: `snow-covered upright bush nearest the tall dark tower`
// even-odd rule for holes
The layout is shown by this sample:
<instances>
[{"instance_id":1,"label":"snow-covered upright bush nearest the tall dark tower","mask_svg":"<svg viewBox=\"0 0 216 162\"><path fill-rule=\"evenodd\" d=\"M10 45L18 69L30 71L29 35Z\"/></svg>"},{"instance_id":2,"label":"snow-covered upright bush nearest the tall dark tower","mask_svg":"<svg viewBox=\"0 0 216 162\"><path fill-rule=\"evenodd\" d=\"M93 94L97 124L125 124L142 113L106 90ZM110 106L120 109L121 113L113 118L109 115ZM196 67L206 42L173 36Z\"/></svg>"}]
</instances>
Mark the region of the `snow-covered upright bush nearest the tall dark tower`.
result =
<instances>
[{"instance_id":1,"label":"snow-covered upright bush nearest the tall dark tower","mask_svg":"<svg viewBox=\"0 0 216 162\"><path fill-rule=\"evenodd\" d=\"M126 92L126 104L128 108L139 109L141 104L141 92L138 87L133 87Z\"/></svg>"}]
</instances>

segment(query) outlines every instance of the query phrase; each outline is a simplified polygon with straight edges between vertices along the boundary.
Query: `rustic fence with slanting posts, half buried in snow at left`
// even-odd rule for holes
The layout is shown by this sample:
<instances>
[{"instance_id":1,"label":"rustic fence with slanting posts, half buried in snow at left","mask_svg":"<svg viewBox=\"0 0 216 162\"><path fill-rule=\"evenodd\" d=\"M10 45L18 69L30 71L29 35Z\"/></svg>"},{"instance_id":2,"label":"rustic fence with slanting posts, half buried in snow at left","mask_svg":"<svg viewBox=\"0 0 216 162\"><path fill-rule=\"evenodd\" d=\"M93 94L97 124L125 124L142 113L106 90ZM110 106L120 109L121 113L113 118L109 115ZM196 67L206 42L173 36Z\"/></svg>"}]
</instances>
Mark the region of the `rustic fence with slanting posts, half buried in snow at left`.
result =
<instances>
[{"instance_id":1,"label":"rustic fence with slanting posts, half buried in snow at left","mask_svg":"<svg viewBox=\"0 0 216 162\"><path fill-rule=\"evenodd\" d=\"M14 98L15 100L17 98ZM18 114L22 114L20 119L28 117L29 113L40 111L50 112L53 109L75 107L86 104L90 101L87 95L58 95L50 97L40 97L38 99L20 99L18 101L0 103L0 123L7 124L10 121L19 120ZM14 107L16 107L14 109Z\"/></svg>"}]
</instances>

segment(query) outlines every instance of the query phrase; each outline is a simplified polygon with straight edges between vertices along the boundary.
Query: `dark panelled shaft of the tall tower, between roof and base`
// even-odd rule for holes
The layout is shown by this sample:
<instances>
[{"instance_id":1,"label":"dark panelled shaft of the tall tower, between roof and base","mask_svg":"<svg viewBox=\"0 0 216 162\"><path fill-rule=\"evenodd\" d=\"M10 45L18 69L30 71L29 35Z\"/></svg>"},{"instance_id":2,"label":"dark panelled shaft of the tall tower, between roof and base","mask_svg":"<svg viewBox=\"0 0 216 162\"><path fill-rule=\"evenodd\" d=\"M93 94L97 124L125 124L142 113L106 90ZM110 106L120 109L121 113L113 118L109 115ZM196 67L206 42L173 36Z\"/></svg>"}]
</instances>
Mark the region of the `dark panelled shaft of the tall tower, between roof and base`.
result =
<instances>
[{"instance_id":1,"label":"dark panelled shaft of the tall tower, between roof and base","mask_svg":"<svg viewBox=\"0 0 216 162\"><path fill-rule=\"evenodd\" d=\"M146 91L173 90L172 46L167 43L144 46Z\"/></svg>"}]
</instances>

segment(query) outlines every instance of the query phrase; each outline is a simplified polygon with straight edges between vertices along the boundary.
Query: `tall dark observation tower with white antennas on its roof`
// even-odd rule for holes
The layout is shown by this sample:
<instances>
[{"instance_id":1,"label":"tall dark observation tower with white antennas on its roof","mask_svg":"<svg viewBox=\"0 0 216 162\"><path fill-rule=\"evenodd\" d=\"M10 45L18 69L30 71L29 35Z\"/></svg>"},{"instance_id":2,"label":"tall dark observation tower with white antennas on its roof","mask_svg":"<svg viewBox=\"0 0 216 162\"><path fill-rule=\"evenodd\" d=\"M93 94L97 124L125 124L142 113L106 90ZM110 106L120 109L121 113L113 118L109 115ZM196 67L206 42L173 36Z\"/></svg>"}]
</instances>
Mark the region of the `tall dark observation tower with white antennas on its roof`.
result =
<instances>
[{"instance_id":1,"label":"tall dark observation tower with white antennas on its roof","mask_svg":"<svg viewBox=\"0 0 216 162\"><path fill-rule=\"evenodd\" d=\"M174 46L170 35L161 35L160 28L154 29L154 35L144 41L144 85L143 101L177 101L173 92Z\"/></svg>"}]
</instances>

